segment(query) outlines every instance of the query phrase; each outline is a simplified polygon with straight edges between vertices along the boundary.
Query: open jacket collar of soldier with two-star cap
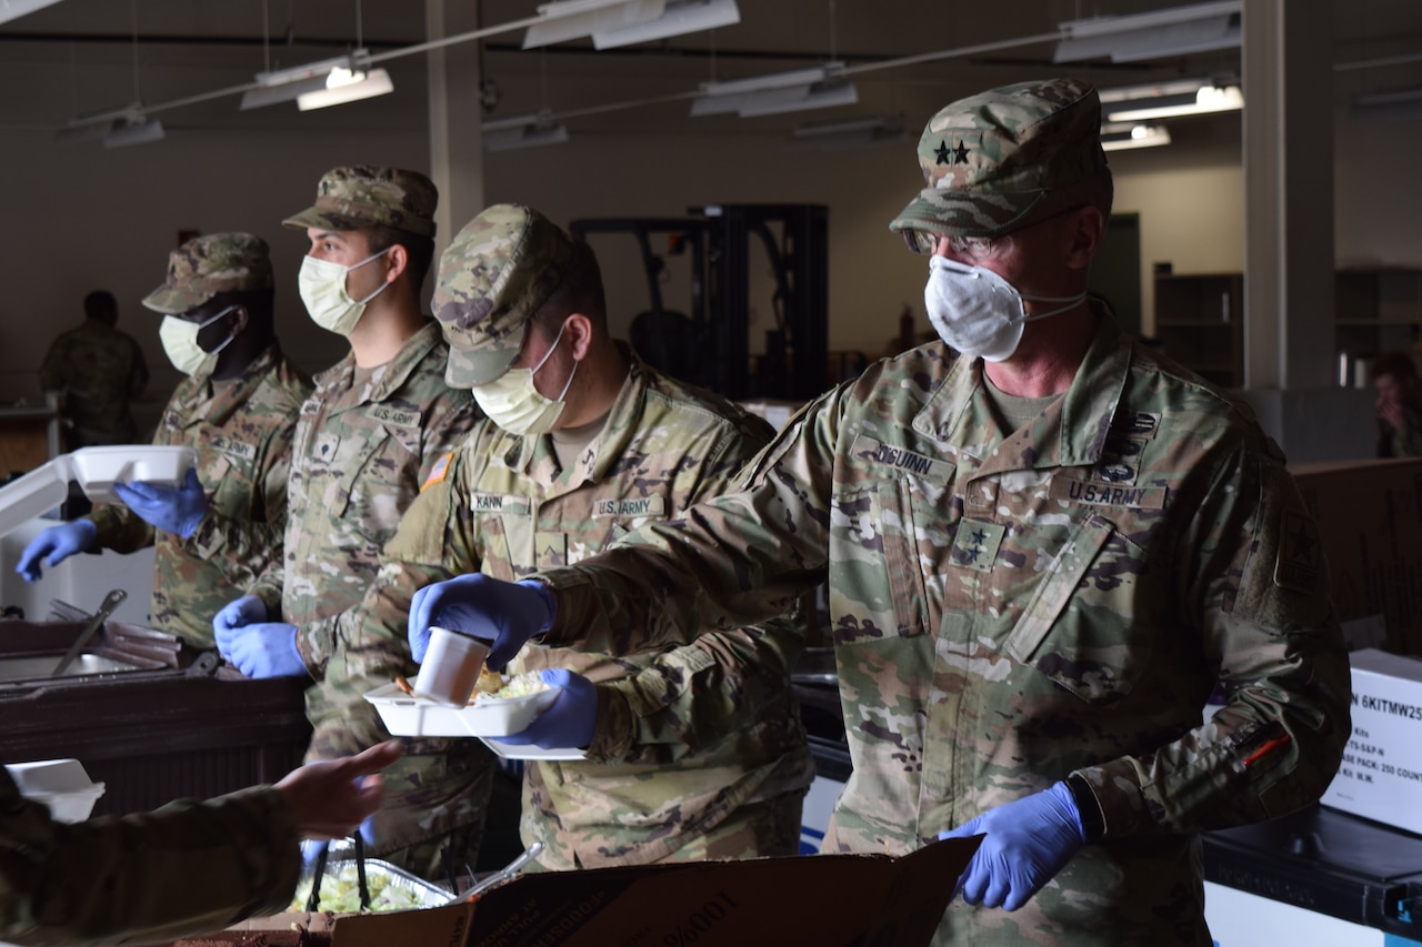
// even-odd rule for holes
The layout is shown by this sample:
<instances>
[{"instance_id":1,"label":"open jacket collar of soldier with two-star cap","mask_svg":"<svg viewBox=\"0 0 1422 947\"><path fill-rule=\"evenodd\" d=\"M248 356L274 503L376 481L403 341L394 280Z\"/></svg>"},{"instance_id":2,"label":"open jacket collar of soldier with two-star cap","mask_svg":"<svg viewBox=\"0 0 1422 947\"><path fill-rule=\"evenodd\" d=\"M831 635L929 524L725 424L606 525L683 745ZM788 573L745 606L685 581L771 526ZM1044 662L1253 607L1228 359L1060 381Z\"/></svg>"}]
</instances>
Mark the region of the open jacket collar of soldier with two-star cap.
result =
<instances>
[{"instance_id":1,"label":"open jacket collar of soldier with two-star cap","mask_svg":"<svg viewBox=\"0 0 1422 947\"><path fill-rule=\"evenodd\" d=\"M1095 464L1105 448L1106 432L1130 368L1130 341L1122 336L1109 313L1095 303L1092 307L1098 316L1096 334L1059 407L1048 411L1059 411L1057 449L1044 445L1045 449L1034 459L1035 468ZM961 444L960 428L983 384L980 358L953 358L943 384L933 390L914 417L913 429L936 441ZM973 448L966 449L974 454Z\"/></svg>"}]
</instances>

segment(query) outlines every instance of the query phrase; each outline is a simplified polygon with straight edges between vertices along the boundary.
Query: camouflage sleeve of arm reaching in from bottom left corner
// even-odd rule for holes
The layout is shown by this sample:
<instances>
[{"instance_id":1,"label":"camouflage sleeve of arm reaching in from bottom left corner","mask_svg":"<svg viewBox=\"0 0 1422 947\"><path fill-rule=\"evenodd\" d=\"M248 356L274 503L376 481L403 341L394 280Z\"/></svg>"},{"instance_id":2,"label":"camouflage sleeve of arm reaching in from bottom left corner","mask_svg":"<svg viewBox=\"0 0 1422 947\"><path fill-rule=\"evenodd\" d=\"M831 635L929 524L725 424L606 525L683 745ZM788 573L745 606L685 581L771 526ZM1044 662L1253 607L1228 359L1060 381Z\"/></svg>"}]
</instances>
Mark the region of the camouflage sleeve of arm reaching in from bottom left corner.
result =
<instances>
[{"instance_id":1,"label":"camouflage sleeve of arm reaching in from bottom left corner","mask_svg":"<svg viewBox=\"0 0 1422 947\"><path fill-rule=\"evenodd\" d=\"M296 889L297 840L264 786L64 825L0 768L0 940L146 944L273 914Z\"/></svg>"}]
</instances>

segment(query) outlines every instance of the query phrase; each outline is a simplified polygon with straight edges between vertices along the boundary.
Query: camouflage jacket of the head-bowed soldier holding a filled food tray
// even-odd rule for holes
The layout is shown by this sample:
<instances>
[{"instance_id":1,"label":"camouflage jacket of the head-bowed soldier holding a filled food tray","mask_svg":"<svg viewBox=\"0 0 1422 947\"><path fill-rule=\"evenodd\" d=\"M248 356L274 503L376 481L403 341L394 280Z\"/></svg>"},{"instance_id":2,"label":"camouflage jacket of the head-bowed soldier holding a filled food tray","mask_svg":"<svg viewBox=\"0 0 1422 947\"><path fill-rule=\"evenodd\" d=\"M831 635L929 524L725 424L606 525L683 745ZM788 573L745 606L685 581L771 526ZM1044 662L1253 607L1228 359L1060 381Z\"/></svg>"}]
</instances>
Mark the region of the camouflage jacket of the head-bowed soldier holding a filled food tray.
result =
<instances>
[{"instance_id":1,"label":"camouflage jacket of the head-bowed soldier holding a filled food tray","mask_svg":"<svg viewBox=\"0 0 1422 947\"><path fill-rule=\"evenodd\" d=\"M370 685L400 671L381 660L408 661L415 589L468 572L513 580L577 562L640 523L725 491L771 434L759 418L636 357L602 432L569 469L559 468L550 438L482 421L385 550L367 600ZM530 762L525 771L523 840L545 842L540 863L566 870L656 862L742 803L805 791L813 761L789 690L801 636L798 623L776 619L624 658L525 648L508 673L570 667L599 684L587 759ZM317 721L317 742L323 729Z\"/></svg>"}]
</instances>

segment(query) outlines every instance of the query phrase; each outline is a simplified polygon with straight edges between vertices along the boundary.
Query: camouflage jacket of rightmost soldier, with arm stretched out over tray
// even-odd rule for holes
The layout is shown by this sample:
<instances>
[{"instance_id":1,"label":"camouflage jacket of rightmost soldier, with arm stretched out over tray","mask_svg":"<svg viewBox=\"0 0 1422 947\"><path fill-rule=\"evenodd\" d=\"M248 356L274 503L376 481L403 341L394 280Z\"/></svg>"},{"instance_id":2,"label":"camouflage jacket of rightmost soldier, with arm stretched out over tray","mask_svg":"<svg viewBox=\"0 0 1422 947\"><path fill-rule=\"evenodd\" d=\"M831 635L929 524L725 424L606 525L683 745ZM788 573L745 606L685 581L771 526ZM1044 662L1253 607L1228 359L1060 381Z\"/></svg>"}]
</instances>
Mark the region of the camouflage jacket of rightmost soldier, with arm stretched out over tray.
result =
<instances>
[{"instance_id":1,"label":"camouflage jacket of rightmost soldier, with arm stretched out over tray","mask_svg":"<svg viewBox=\"0 0 1422 947\"><path fill-rule=\"evenodd\" d=\"M902 855L1075 772L1103 838L1012 914L956 900L940 941L1207 946L1196 833L1315 801L1348 738L1317 530L1249 410L1109 317L1022 429L983 387L941 344L875 364L745 492L546 576L543 643L681 640L828 576L853 774L826 850Z\"/></svg>"}]
</instances>

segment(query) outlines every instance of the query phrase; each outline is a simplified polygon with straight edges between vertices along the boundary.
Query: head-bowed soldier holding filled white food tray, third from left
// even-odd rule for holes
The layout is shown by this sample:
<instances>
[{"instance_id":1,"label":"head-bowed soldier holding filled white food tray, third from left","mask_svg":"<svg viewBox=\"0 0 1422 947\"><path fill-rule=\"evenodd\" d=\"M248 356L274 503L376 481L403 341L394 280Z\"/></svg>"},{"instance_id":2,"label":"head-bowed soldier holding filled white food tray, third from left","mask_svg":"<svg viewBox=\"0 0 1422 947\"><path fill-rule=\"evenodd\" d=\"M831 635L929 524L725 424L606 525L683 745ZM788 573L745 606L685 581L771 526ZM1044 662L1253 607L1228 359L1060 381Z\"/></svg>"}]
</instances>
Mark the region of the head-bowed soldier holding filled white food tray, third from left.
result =
<instances>
[{"instance_id":1,"label":"head-bowed soldier holding filled white food tray, third from left","mask_svg":"<svg viewBox=\"0 0 1422 947\"><path fill-rule=\"evenodd\" d=\"M434 309L449 384L472 388L488 417L385 547L363 644L346 651L368 687L408 673L404 628L421 586L476 572L515 580L594 555L727 489L772 435L613 341L592 250L529 208L495 205L459 232L441 257ZM491 391L520 375L539 382L510 412ZM543 405L540 421L520 419L528 404ZM539 724L563 717L586 732L550 745L587 749L576 762L526 764L522 835L545 843L539 863L793 855L815 775L789 688L802 636L779 619L623 658L596 646L525 648L509 674L569 668L576 678ZM370 715L338 700L327 711L343 731ZM328 724L313 722L320 742Z\"/></svg>"}]
</instances>

